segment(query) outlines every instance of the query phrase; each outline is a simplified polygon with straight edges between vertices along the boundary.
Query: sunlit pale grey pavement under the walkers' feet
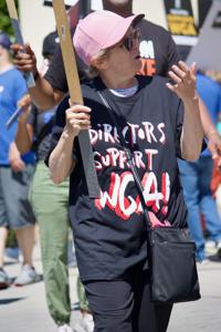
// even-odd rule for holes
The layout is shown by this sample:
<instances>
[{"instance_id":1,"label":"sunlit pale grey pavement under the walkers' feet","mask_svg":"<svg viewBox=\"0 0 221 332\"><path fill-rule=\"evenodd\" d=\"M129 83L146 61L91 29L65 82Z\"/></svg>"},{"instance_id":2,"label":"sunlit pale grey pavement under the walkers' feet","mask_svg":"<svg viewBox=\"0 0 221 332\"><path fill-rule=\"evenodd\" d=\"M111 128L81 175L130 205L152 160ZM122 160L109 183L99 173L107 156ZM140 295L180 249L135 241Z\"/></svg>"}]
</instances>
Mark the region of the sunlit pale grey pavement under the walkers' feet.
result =
<instances>
[{"instance_id":1,"label":"sunlit pale grey pavement under the walkers' feet","mask_svg":"<svg viewBox=\"0 0 221 332\"><path fill-rule=\"evenodd\" d=\"M38 246L34 250L34 266L38 272L42 273ZM20 268L18 261L6 260L6 270L10 277L15 277ZM207 264L198 264L198 271L201 300L176 304L167 332L221 331L221 261L214 259ZM72 303L77 302L76 276L76 267L71 267ZM80 312L73 310L72 326L78 319ZM43 281L22 288L12 286L0 291L0 332L56 332L48 312Z\"/></svg>"}]
</instances>

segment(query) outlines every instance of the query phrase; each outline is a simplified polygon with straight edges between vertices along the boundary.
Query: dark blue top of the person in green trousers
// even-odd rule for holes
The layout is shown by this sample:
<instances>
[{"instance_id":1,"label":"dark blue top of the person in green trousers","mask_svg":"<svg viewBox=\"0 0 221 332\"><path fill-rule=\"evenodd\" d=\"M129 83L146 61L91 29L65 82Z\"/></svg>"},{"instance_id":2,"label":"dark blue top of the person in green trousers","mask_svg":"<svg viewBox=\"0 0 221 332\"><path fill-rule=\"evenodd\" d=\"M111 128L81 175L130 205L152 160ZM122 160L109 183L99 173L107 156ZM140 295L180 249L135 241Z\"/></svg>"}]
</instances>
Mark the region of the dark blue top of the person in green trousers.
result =
<instances>
[{"instance_id":1,"label":"dark blue top of the person in green trousers","mask_svg":"<svg viewBox=\"0 0 221 332\"><path fill-rule=\"evenodd\" d=\"M51 146L52 138L52 127L54 125L54 113L56 107L45 111L39 112L38 108L32 105L31 113L28 118L28 123L33 126L34 141L38 139L39 135L42 133L43 127L50 122L50 126L46 127L46 132L36 148L36 159L44 160L45 156L49 153L49 148Z\"/></svg>"}]
</instances>

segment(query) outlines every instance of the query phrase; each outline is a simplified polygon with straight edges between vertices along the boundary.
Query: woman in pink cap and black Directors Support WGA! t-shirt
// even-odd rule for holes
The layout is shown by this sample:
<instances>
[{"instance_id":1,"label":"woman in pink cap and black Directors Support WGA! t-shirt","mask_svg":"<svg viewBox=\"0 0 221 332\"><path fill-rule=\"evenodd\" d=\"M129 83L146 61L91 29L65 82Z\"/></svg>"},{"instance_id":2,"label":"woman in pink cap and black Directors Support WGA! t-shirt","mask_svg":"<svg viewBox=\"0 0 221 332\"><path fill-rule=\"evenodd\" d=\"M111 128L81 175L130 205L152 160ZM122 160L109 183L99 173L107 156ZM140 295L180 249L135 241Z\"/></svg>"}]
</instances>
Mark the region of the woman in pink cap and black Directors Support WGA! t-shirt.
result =
<instances>
[{"instance_id":1,"label":"woman in pink cap and black Directors Support WGA! t-shirt","mask_svg":"<svg viewBox=\"0 0 221 332\"><path fill-rule=\"evenodd\" d=\"M164 332L171 312L171 305L150 301L146 226L119 131L155 227L186 226L177 156L193 160L202 145L193 69L173 65L173 85L136 75L141 62L134 25L141 18L97 11L80 21L74 46L96 77L82 86L84 106L70 106L66 97L57 108L49 156L54 183L71 176L70 216L95 332ZM77 139L85 129L101 187L96 199L88 196Z\"/></svg>"}]
</instances>

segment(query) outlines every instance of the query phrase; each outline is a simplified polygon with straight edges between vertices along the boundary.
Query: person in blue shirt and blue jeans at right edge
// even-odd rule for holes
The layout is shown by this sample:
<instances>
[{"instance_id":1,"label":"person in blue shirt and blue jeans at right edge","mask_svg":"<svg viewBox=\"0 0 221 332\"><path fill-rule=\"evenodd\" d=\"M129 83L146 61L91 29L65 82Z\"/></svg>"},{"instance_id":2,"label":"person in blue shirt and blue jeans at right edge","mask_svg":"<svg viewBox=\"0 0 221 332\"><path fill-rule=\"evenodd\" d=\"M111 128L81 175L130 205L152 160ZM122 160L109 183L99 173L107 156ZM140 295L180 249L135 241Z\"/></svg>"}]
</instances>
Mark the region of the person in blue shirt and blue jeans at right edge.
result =
<instances>
[{"instance_id":1,"label":"person in blue shirt and blue jeans at right edge","mask_svg":"<svg viewBox=\"0 0 221 332\"><path fill-rule=\"evenodd\" d=\"M219 83L210 77L209 71L204 73L199 71L197 89L215 124L221 111ZM212 250L221 257L221 219L210 187L213 169L211 153L206 149L193 163L179 160L179 169L188 207L188 225L197 246L197 259L207 262L207 250L208 253ZM206 228L209 232L208 241L204 240L201 215L204 217Z\"/></svg>"}]
</instances>

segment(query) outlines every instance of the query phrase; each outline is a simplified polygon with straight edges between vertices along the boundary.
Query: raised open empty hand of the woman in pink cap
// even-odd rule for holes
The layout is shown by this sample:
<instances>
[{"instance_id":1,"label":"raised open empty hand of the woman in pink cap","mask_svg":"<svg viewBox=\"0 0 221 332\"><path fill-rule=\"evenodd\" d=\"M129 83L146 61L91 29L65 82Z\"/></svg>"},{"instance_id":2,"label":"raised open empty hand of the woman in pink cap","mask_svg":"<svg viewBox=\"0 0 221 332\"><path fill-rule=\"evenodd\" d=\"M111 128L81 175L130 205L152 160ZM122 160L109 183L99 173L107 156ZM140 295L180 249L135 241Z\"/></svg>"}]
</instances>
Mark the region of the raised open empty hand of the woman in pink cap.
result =
<instances>
[{"instance_id":1,"label":"raised open empty hand of the woman in pink cap","mask_svg":"<svg viewBox=\"0 0 221 332\"><path fill-rule=\"evenodd\" d=\"M173 64L169 76L175 84L167 83L167 87L175 92L183 102L198 96L196 89L196 63L189 68L185 62L179 61Z\"/></svg>"}]
</instances>

